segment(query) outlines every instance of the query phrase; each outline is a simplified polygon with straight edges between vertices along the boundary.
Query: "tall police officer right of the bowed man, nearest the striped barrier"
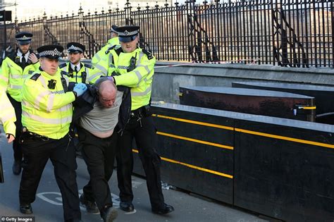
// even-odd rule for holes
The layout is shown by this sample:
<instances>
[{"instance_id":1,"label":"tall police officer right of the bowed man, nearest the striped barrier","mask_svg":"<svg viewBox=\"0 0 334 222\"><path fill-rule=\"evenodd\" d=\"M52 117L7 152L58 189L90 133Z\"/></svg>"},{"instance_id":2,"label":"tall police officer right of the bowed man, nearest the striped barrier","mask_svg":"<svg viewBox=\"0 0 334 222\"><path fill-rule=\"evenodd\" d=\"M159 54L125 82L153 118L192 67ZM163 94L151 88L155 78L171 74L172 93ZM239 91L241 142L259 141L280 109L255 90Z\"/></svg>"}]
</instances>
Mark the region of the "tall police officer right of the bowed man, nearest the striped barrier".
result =
<instances>
[{"instance_id":1,"label":"tall police officer right of the bowed man, nearest the striped barrier","mask_svg":"<svg viewBox=\"0 0 334 222\"><path fill-rule=\"evenodd\" d=\"M137 47L138 26L118 27L120 48L111 49L113 57L109 66L109 75L117 86L130 87L130 117L123 121L127 123L120 129L118 138L117 178L120 189L120 209L134 211L132 204L131 173L133 168L132 139L135 138L140 159L147 177L147 189L151 210L156 214L168 214L173 206L165 204L161 190L160 164L161 159L156 154L157 142L149 104L151 99L151 84L154 75L156 59L147 50Z\"/></svg>"}]
</instances>

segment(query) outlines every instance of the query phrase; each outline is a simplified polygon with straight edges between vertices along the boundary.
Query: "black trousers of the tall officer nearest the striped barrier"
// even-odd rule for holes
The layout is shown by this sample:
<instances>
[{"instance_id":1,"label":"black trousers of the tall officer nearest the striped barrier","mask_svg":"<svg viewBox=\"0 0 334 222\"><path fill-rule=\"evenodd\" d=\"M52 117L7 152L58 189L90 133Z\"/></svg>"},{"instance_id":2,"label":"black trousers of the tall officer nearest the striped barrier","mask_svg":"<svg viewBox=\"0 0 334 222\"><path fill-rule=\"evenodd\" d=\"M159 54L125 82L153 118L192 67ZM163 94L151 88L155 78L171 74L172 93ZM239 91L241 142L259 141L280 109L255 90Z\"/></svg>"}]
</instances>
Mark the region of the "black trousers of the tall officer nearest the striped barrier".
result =
<instances>
[{"instance_id":1,"label":"black trousers of the tall officer nearest the striped barrier","mask_svg":"<svg viewBox=\"0 0 334 222\"><path fill-rule=\"evenodd\" d=\"M139 118L132 116L125 126L122 135L118 137L116 152L117 179L120 190L120 201L132 202L131 174L133 170L132 140L135 138L140 160L144 168L147 180L147 190L152 208L162 208L164 204L161 190L160 156L156 153L157 144L156 128L153 118L147 116Z\"/></svg>"}]
</instances>

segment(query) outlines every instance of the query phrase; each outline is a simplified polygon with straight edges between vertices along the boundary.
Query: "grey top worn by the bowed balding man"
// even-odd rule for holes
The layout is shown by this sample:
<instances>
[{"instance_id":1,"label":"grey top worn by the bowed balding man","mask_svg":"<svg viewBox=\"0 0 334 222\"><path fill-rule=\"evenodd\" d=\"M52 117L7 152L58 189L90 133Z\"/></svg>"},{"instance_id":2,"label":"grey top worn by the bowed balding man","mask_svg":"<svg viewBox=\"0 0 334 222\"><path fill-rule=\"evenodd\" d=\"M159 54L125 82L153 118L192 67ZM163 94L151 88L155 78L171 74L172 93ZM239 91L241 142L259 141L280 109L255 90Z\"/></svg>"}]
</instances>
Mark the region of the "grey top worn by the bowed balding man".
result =
<instances>
[{"instance_id":1,"label":"grey top worn by the bowed balding man","mask_svg":"<svg viewBox=\"0 0 334 222\"><path fill-rule=\"evenodd\" d=\"M118 113L122 102L123 92L117 91L115 105L105 108L97 101L94 108L80 118L79 124L92 133L104 133L113 130L118 122Z\"/></svg>"}]
</instances>

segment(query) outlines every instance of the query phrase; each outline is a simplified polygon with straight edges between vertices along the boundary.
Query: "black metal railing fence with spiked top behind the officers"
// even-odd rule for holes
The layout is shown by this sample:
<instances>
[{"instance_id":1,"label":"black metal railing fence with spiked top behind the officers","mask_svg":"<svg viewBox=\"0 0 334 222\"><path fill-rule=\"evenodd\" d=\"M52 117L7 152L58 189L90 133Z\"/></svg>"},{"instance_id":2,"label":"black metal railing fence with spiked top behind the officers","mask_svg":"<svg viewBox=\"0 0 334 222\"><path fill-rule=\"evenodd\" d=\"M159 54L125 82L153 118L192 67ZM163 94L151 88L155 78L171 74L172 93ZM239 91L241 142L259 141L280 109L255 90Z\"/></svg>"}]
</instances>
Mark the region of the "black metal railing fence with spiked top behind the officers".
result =
<instances>
[{"instance_id":1,"label":"black metal railing fence with spiked top behind the officers","mask_svg":"<svg viewBox=\"0 0 334 222\"><path fill-rule=\"evenodd\" d=\"M334 68L333 8L332 0L190 0L155 8L132 8L128 1L123 10L84 13L80 7L78 14L7 23L6 44L15 47L15 33L25 30L34 34L34 48L80 42L92 58L111 25L140 25L140 46L159 61Z\"/></svg>"}]
</instances>

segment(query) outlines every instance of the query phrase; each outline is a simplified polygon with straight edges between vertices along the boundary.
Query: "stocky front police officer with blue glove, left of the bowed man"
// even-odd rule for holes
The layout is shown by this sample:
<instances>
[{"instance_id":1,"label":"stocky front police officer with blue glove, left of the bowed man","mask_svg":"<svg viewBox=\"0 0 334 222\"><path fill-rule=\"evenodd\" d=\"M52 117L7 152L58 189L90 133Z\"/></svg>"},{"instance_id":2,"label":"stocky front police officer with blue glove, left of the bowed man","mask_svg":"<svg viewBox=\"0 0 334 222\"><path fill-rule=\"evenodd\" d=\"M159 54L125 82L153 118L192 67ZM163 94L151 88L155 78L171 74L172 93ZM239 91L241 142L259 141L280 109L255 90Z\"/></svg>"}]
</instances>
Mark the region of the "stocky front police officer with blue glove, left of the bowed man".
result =
<instances>
[{"instance_id":1,"label":"stocky front police officer with blue glove, left of the bowed man","mask_svg":"<svg viewBox=\"0 0 334 222\"><path fill-rule=\"evenodd\" d=\"M72 102L87 86L75 85L68 92L66 73L58 70L58 58L63 47L39 47L41 67L23 85L22 123L20 137L25 165L20 182L20 212L32 214L31 203L47 161L54 166L54 174L63 199L65 221L80 221L78 186L75 180L75 149L68 146L68 130L72 121Z\"/></svg>"}]
</instances>

